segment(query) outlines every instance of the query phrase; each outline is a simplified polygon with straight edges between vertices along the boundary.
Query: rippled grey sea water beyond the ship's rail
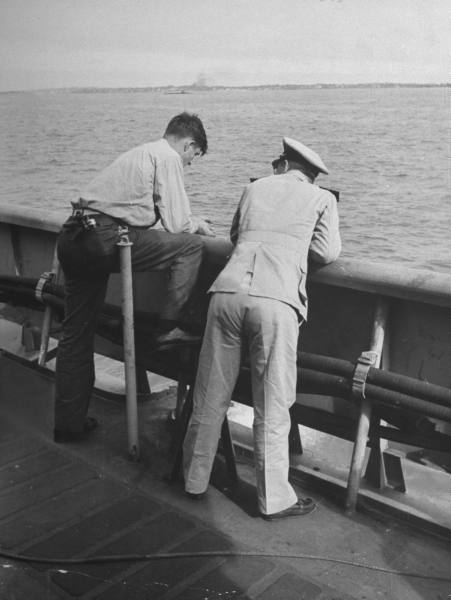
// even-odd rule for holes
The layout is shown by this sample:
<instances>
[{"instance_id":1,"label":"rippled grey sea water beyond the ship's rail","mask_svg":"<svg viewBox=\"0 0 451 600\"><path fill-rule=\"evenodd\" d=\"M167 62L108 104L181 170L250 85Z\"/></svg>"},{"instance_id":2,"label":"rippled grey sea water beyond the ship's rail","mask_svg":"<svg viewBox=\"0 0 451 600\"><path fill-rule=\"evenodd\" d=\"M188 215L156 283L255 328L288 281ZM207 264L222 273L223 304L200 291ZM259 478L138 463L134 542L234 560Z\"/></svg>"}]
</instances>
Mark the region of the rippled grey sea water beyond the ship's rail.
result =
<instances>
[{"instance_id":1,"label":"rippled grey sea water beyond the ship's rail","mask_svg":"<svg viewBox=\"0 0 451 600\"><path fill-rule=\"evenodd\" d=\"M244 185L282 137L316 150L340 191L343 257L451 273L450 88L47 91L0 94L0 203L68 213L118 154L196 112L209 150L185 173L194 214L227 235Z\"/></svg>"}]
</instances>

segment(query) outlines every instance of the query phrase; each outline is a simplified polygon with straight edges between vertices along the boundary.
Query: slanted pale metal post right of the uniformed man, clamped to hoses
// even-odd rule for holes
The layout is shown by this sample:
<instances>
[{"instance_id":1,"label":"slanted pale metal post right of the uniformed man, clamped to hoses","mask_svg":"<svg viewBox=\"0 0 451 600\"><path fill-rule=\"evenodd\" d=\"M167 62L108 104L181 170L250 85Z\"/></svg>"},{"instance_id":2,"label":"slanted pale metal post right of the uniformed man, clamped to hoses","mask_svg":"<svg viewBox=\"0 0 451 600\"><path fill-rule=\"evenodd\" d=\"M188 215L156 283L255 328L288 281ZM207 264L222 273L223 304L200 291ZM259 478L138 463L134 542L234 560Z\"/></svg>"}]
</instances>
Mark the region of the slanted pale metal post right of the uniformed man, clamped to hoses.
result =
<instances>
[{"instance_id":1,"label":"slanted pale metal post right of the uniformed man, clamped to hoses","mask_svg":"<svg viewBox=\"0 0 451 600\"><path fill-rule=\"evenodd\" d=\"M388 307L389 304L386 298L378 299L370 344L370 352L374 353L375 355L372 364L373 367L379 367L380 365L387 326ZM357 504L357 496L359 493L360 481L363 472L363 463L365 460L365 449L370 428L370 419L371 402L365 398L365 394L363 393L346 491L345 510L348 514L355 511Z\"/></svg>"}]
</instances>

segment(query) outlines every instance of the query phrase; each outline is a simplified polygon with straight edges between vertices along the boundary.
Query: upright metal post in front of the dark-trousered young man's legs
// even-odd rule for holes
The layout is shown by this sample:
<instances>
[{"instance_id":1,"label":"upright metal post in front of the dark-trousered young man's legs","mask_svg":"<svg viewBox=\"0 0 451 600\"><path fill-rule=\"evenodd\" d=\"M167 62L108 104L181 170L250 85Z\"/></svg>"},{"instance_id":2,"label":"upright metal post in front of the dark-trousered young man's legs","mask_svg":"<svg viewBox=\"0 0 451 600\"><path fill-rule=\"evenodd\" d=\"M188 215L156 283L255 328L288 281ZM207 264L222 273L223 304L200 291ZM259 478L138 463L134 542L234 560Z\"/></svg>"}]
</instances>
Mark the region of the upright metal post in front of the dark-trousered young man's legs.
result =
<instances>
[{"instance_id":1,"label":"upright metal post in front of the dark-trousered young man's legs","mask_svg":"<svg viewBox=\"0 0 451 600\"><path fill-rule=\"evenodd\" d=\"M118 242L122 284L122 317L125 390L127 406L128 452L131 460L139 460L138 403L136 393L135 324L133 313L133 274L131 247L127 227L119 228Z\"/></svg>"}]
</instances>

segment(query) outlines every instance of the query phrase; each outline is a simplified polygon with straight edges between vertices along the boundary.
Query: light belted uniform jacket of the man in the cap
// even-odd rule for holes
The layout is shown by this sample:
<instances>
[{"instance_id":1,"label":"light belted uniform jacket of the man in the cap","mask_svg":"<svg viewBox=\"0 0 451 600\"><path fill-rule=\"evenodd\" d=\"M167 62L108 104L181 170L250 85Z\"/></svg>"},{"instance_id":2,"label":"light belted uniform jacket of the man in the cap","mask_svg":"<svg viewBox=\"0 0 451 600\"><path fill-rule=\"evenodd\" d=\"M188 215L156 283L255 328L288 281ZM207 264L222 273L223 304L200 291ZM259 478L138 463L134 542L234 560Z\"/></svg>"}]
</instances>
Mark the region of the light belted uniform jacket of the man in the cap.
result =
<instances>
[{"instance_id":1,"label":"light belted uniform jacket of the man in the cap","mask_svg":"<svg viewBox=\"0 0 451 600\"><path fill-rule=\"evenodd\" d=\"M337 201L301 171L258 179L246 186L235 213L229 262L210 292L274 298L307 317L308 258L327 264L341 251Z\"/></svg>"}]
</instances>

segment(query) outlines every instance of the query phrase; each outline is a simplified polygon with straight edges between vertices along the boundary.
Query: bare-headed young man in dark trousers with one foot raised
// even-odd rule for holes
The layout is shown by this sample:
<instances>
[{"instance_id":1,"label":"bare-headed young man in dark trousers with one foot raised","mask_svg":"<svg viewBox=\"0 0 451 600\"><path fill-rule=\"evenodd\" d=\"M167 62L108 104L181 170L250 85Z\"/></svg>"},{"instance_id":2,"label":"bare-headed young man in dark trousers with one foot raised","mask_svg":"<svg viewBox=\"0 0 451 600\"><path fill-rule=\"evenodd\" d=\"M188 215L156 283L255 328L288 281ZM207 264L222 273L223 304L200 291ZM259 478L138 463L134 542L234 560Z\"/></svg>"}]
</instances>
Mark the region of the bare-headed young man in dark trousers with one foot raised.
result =
<instances>
[{"instance_id":1,"label":"bare-headed young man in dark trousers with one foot raised","mask_svg":"<svg viewBox=\"0 0 451 600\"><path fill-rule=\"evenodd\" d=\"M171 269L157 342L190 338L176 322L202 261L202 238L191 234L214 232L191 215L183 167L207 147L199 117L177 115L161 139L119 156L73 203L74 214L58 238L66 315L56 363L56 442L83 439L97 425L86 417L94 384L94 335L109 274L119 270L120 226L128 227L133 243L133 270Z\"/></svg>"}]
</instances>

